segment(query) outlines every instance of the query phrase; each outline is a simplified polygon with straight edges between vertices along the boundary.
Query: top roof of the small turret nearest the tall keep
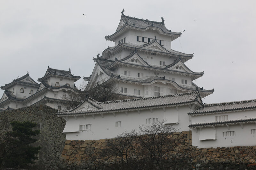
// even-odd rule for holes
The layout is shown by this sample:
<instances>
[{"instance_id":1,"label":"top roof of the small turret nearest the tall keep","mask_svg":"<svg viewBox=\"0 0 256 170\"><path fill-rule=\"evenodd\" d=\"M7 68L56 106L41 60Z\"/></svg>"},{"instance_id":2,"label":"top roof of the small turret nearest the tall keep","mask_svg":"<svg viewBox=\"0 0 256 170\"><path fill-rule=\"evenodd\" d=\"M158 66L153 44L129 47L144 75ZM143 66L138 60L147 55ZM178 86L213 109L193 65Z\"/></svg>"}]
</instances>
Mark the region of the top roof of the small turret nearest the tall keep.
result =
<instances>
[{"instance_id":1,"label":"top roof of the small turret nearest the tall keep","mask_svg":"<svg viewBox=\"0 0 256 170\"><path fill-rule=\"evenodd\" d=\"M74 76L73 74L71 74L70 69L68 69L67 71L66 70L57 70L57 69L52 69L52 68L50 68L50 66L48 66L44 77L38 78L37 81L41 82L42 80L44 80L45 78L47 78L50 75L66 77L66 78L71 78L71 79L75 79L75 80L79 80L81 78L80 76Z\"/></svg>"}]
</instances>

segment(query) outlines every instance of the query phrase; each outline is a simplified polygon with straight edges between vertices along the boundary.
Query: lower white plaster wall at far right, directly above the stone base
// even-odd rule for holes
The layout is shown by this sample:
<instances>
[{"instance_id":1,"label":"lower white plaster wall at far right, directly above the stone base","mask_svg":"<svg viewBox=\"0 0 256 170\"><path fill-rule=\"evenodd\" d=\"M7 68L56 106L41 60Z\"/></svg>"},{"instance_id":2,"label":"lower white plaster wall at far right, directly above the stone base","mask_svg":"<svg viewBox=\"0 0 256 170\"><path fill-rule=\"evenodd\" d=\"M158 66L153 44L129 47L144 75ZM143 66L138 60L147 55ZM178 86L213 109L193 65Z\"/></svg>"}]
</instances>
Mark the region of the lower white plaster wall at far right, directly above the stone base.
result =
<instances>
[{"instance_id":1,"label":"lower white plaster wall at far right, directly above the stone base","mask_svg":"<svg viewBox=\"0 0 256 170\"><path fill-rule=\"evenodd\" d=\"M204 131L205 128L202 128ZM255 123L244 124L243 129L240 125L230 125L216 127L216 140L199 141L200 130L192 129L192 144L199 148L217 148L231 146L255 146L256 135L251 134L251 129L256 129ZM223 132L236 131L236 136L223 137Z\"/></svg>"}]
</instances>

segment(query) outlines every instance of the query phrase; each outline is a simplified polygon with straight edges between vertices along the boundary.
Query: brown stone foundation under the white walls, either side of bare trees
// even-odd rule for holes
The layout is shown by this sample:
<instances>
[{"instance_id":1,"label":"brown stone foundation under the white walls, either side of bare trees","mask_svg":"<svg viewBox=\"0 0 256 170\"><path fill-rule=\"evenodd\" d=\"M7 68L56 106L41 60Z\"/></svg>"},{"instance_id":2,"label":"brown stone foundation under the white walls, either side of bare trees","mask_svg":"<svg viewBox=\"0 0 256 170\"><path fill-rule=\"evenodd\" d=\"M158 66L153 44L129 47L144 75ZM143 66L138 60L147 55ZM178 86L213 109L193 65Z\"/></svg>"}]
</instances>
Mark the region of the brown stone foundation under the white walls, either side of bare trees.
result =
<instances>
[{"instance_id":1,"label":"brown stone foundation under the white walls, either side of bare trees","mask_svg":"<svg viewBox=\"0 0 256 170\"><path fill-rule=\"evenodd\" d=\"M256 146L230 148L197 148L192 146L191 131L172 135L173 151L165 156L173 169L256 169ZM80 165L95 152L108 147L108 139L66 140L61 154L69 165Z\"/></svg>"}]
</instances>

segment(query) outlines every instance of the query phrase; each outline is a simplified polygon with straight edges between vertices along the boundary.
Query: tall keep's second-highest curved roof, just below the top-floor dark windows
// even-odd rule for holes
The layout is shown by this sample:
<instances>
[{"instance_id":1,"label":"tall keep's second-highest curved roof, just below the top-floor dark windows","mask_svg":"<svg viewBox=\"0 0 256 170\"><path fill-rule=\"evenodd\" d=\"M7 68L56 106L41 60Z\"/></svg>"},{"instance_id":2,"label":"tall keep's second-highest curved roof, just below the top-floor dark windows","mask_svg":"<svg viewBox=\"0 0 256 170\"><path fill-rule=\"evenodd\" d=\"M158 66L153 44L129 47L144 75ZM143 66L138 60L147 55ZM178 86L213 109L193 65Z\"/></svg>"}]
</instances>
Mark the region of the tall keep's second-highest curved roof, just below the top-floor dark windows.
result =
<instances>
[{"instance_id":1,"label":"tall keep's second-highest curved roof, just below the top-floor dark windows","mask_svg":"<svg viewBox=\"0 0 256 170\"><path fill-rule=\"evenodd\" d=\"M146 48L142 44L141 45L140 44L133 44L133 43L130 43L130 42L125 42L125 43L118 42L117 46L108 47L107 49L105 49L102 52L102 56L106 51L112 52L112 51L116 51L116 50L118 50L119 48L122 48L122 47L132 49L132 50L135 50L135 48L136 48L138 51L148 51L148 52L153 52L153 53L165 54L165 55L169 55L169 56L171 55L171 56L174 56L174 57L181 57L182 62L186 62L194 56L194 54L186 54L186 53L182 53L182 52L175 51L175 50L172 50L172 49L165 49L165 51L162 51L162 50L153 49L153 48ZM102 56L100 58L102 58Z\"/></svg>"}]
</instances>

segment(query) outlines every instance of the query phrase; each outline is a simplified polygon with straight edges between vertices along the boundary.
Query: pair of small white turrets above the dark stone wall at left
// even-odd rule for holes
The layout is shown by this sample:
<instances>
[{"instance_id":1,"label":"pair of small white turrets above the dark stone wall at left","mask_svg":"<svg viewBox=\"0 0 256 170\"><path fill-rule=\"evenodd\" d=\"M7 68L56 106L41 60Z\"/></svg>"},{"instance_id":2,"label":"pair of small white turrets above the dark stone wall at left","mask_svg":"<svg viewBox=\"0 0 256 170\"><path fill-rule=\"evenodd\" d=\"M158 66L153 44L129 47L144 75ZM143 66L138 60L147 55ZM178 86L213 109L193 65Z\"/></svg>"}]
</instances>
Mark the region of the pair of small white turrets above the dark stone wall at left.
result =
<instances>
[{"instance_id":1,"label":"pair of small white turrets above the dark stone wall at left","mask_svg":"<svg viewBox=\"0 0 256 170\"><path fill-rule=\"evenodd\" d=\"M0 99L0 109L17 109L21 107L44 104L58 110L66 110L68 92L82 93L74 84L80 76L74 76L69 70L57 70L48 66L45 75L38 78L37 84L29 74L13 79L1 86L4 94ZM67 108L70 109L70 108Z\"/></svg>"}]
</instances>

